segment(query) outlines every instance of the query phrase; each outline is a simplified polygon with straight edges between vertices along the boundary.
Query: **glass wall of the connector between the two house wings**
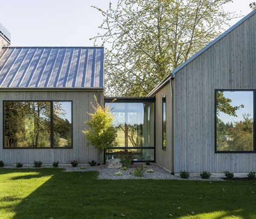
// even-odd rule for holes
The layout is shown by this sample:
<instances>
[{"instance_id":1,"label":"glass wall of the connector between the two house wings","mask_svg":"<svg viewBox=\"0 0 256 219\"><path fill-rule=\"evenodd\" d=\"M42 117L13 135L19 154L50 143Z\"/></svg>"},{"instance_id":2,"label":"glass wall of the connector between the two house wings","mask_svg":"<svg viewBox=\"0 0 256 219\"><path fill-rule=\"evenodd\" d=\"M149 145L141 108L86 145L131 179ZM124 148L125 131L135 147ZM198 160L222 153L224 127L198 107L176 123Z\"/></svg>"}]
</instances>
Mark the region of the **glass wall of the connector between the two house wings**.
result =
<instances>
[{"instance_id":1,"label":"glass wall of the connector between the two house wings","mask_svg":"<svg viewBox=\"0 0 256 219\"><path fill-rule=\"evenodd\" d=\"M105 158L114 158L127 148L133 160L154 160L154 102L107 102L106 106L111 109L118 131L117 146L108 149Z\"/></svg>"}]
</instances>

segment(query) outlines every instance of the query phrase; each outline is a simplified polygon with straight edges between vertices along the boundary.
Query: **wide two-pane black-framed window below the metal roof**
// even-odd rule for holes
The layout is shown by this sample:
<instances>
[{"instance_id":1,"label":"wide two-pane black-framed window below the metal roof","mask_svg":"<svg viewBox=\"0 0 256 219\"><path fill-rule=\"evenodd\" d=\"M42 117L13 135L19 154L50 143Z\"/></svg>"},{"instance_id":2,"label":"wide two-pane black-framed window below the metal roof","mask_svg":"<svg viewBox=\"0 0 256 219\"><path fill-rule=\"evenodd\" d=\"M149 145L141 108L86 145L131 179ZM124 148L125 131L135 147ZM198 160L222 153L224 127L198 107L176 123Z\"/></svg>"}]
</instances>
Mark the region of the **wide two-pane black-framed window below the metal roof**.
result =
<instances>
[{"instance_id":1,"label":"wide two-pane black-framed window below the metal roof","mask_svg":"<svg viewBox=\"0 0 256 219\"><path fill-rule=\"evenodd\" d=\"M4 101L4 148L72 147L71 101Z\"/></svg>"}]
</instances>

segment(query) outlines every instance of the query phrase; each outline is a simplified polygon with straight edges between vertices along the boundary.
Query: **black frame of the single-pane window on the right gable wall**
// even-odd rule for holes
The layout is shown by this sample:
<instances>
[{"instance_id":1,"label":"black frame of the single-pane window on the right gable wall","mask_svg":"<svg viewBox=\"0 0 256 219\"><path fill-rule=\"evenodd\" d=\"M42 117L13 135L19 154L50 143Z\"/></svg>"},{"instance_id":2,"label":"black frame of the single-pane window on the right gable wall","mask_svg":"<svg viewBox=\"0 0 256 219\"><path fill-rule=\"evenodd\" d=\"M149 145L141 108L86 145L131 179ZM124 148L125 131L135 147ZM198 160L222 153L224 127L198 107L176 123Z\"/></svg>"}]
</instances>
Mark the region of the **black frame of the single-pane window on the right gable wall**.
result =
<instances>
[{"instance_id":1,"label":"black frame of the single-pane window on the right gable wall","mask_svg":"<svg viewBox=\"0 0 256 219\"><path fill-rule=\"evenodd\" d=\"M253 150L217 150L217 92L219 91L251 91L253 92ZM215 154L253 154L256 153L255 148L255 90L254 89L215 89L214 90L214 150Z\"/></svg>"}]
</instances>

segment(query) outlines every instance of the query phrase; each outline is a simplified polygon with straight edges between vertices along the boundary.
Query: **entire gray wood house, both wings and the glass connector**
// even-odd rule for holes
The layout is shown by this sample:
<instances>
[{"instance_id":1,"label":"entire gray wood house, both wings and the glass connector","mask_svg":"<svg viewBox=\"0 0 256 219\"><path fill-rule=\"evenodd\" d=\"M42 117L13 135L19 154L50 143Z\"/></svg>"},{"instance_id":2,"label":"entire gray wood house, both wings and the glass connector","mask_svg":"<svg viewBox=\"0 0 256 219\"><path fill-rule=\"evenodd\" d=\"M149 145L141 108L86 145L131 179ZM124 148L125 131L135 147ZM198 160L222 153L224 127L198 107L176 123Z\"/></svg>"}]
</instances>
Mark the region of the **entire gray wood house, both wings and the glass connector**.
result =
<instances>
[{"instance_id":1,"label":"entire gray wood house, both wings and the glass connector","mask_svg":"<svg viewBox=\"0 0 256 219\"><path fill-rule=\"evenodd\" d=\"M82 133L96 95L118 127L105 160L128 150L172 173L255 171L255 13L139 98L104 97L103 47L11 47L0 25L0 160L97 160Z\"/></svg>"}]
</instances>

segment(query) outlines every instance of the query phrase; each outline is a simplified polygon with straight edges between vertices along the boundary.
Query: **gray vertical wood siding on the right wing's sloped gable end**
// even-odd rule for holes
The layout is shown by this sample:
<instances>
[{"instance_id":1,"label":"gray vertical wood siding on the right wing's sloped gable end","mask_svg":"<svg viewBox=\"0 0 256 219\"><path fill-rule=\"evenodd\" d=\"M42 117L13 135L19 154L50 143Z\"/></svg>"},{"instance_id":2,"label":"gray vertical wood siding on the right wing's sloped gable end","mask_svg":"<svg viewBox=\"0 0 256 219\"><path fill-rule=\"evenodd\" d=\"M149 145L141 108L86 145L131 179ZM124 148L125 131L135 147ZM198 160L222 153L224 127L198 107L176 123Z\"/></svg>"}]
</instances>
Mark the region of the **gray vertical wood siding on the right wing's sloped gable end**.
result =
<instances>
[{"instance_id":1,"label":"gray vertical wood siding on the right wing's sloped gable end","mask_svg":"<svg viewBox=\"0 0 256 219\"><path fill-rule=\"evenodd\" d=\"M256 154L214 153L214 89L256 89L256 15L176 73L174 172L250 172Z\"/></svg>"}]
</instances>

